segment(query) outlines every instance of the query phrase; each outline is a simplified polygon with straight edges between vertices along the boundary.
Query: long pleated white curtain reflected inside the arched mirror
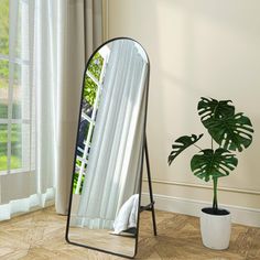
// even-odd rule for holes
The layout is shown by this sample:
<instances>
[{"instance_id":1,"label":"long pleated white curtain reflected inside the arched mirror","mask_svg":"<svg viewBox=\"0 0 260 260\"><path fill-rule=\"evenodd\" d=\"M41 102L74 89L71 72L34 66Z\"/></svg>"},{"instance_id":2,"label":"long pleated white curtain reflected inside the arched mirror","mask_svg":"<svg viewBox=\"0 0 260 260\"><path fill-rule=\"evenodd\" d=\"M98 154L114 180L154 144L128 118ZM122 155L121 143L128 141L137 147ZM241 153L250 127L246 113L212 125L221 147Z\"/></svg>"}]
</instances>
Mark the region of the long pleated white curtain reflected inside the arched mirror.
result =
<instances>
[{"instance_id":1,"label":"long pleated white curtain reflected inside the arched mirror","mask_svg":"<svg viewBox=\"0 0 260 260\"><path fill-rule=\"evenodd\" d=\"M112 228L121 205L138 191L147 69L147 62L132 41L112 43L76 218L78 225Z\"/></svg>"}]
</instances>

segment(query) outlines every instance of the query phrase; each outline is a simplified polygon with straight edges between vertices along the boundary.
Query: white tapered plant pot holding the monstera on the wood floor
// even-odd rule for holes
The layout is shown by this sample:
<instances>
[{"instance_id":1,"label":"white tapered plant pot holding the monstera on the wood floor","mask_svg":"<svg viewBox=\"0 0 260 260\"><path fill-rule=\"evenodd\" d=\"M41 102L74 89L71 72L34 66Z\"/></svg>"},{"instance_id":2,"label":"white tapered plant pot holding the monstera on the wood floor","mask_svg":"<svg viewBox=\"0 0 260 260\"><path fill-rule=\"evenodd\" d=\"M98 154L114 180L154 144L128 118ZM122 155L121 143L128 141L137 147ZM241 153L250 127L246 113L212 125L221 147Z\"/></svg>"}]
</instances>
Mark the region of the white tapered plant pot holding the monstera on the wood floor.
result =
<instances>
[{"instance_id":1,"label":"white tapered plant pot holding the monstera on the wood floor","mask_svg":"<svg viewBox=\"0 0 260 260\"><path fill-rule=\"evenodd\" d=\"M224 250L229 247L231 215L212 215L201 212L201 232L203 245L207 248Z\"/></svg>"}]
</instances>

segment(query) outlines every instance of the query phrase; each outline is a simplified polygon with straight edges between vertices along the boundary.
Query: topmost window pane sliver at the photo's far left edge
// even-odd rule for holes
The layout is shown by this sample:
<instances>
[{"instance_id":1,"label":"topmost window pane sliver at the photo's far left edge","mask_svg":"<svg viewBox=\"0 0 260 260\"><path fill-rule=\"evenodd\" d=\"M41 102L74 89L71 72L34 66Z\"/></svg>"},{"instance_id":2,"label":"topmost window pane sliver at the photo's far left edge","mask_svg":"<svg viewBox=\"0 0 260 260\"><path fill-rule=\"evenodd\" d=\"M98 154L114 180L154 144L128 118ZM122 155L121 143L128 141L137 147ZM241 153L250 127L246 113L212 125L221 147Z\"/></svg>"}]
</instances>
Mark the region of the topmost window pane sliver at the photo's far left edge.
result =
<instances>
[{"instance_id":1,"label":"topmost window pane sliver at the photo's far left edge","mask_svg":"<svg viewBox=\"0 0 260 260\"><path fill-rule=\"evenodd\" d=\"M9 53L9 0L0 0L0 54Z\"/></svg>"}]
</instances>

